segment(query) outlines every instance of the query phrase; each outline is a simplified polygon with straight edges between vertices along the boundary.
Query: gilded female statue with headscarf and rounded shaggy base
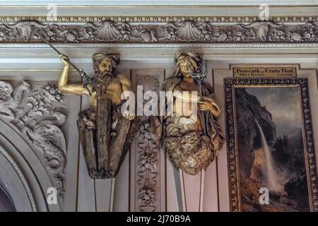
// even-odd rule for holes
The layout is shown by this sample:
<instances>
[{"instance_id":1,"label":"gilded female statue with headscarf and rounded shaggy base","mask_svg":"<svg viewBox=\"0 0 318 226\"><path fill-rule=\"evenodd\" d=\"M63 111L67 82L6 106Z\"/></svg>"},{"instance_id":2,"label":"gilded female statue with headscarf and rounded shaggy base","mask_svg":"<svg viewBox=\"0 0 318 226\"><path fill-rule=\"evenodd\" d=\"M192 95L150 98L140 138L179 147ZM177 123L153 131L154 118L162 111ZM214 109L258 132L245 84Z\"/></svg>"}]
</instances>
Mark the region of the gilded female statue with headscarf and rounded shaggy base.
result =
<instances>
[{"instance_id":1,"label":"gilded female statue with headscarf and rounded shaggy base","mask_svg":"<svg viewBox=\"0 0 318 226\"><path fill-rule=\"evenodd\" d=\"M163 90L166 92L179 91L181 94L184 91L197 91L199 94L200 90L192 78L192 71L199 71L201 57L189 50L177 52L175 61L177 63L175 73L167 78ZM163 143L165 150L177 169L183 169L184 172L191 175L206 169L218 155L218 150L224 143L223 131L217 121L220 116L220 107L214 101L213 88L204 81L202 82L202 93L203 101L200 101L199 95L192 96L192 100L197 101L196 118L192 115L179 114L177 111L177 102L189 105L188 109L191 109L192 103L185 95L170 97L173 98L173 112L172 115L164 117ZM169 97L167 97L167 102L171 101L168 99ZM206 125L203 124L202 117L205 118ZM206 135L204 135L204 126L206 126Z\"/></svg>"}]
</instances>

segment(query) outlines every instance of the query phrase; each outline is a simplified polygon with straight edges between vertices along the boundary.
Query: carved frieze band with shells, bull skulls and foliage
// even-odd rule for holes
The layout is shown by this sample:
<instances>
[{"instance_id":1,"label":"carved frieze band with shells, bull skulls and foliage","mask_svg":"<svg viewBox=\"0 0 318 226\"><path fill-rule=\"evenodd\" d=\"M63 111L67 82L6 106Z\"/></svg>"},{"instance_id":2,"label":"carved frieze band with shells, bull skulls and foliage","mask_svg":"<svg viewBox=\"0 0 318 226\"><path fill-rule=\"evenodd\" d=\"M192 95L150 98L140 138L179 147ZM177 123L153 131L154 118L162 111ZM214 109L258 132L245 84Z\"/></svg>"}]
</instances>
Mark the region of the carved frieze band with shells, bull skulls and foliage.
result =
<instances>
[{"instance_id":1,"label":"carved frieze band with shells, bull skulls and foliage","mask_svg":"<svg viewBox=\"0 0 318 226\"><path fill-rule=\"evenodd\" d=\"M40 43L37 33L49 42L63 44L254 44L318 42L318 23L210 23L185 20L176 23L144 24L100 23L39 23L21 21L0 23L0 43Z\"/></svg>"}]
</instances>

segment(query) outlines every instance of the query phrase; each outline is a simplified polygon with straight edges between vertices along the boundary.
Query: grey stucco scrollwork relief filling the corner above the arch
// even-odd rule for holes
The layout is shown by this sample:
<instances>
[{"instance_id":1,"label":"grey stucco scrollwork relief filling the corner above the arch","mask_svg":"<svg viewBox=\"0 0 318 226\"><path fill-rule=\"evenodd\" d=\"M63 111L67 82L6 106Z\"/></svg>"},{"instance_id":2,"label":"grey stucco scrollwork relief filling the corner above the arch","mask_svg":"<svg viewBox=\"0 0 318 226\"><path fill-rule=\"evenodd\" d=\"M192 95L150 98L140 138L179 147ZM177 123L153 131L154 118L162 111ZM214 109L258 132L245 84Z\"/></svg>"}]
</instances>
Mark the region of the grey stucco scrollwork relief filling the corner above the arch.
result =
<instances>
[{"instance_id":1,"label":"grey stucco scrollwork relief filling the corner above the arch","mask_svg":"<svg viewBox=\"0 0 318 226\"><path fill-rule=\"evenodd\" d=\"M25 94L28 97L24 97ZM22 81L13 90L10 83L0 81L0 107L0 117L9 120L29 143L40 150L62 200L66 143L60 127L66 116L58 109L65 107L63 95L54 84L40 85L31 90L30 83Z\"/></svg>"}]
</instances>

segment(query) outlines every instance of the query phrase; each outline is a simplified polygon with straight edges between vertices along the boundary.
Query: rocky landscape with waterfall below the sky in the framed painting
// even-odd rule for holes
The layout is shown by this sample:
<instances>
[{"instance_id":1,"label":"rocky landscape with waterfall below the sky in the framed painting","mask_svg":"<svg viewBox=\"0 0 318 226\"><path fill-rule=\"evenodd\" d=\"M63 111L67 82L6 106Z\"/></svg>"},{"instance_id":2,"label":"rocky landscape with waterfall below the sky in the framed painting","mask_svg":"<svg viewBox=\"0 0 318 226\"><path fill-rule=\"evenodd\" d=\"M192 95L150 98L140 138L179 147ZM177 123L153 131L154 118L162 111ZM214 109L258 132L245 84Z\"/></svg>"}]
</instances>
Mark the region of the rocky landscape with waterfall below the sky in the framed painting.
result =
<instances>
[{"instance_id":1,"label":"rocky landscape with waterfall below the sky in the framed painting","mask_svg":"<svg viewBox=\"0 0 318 226\"><path fill-rule=\"evenodd\" d=\"M269 93L250 92L253 95L248 89L235 89L242 210L309 211L301 124L285 126L288 129L276 136L277 112L272 117L273 107L266 109L259 101ZM269 189L269 205L259 203L264 186Z\"/></svg>"}]
</instances>

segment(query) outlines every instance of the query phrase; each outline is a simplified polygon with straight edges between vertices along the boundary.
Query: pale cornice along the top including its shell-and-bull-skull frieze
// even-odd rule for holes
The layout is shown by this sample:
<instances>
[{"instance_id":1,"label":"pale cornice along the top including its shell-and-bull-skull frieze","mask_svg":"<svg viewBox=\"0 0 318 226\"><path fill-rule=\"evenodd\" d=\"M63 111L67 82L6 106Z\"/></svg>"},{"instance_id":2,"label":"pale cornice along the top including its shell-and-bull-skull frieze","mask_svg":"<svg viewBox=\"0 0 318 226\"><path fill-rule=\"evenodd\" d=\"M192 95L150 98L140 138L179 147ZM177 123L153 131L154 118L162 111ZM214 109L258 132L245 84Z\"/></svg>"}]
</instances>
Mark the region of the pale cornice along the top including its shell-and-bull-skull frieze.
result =
<instances>
[{"instance_id":1,"label":"pale cornice along the top including its shell-and-bull-skull frieze","mask_svg":"<svg viewBox=\"0 0 318 226\"><path fill-rule=\"evenodd\" d=\"M266 19L264 1L0 2L0 44L40 43L37 34L61 44L318 42L317 1L266 1Z\"/></svg>"}]
</instances>

